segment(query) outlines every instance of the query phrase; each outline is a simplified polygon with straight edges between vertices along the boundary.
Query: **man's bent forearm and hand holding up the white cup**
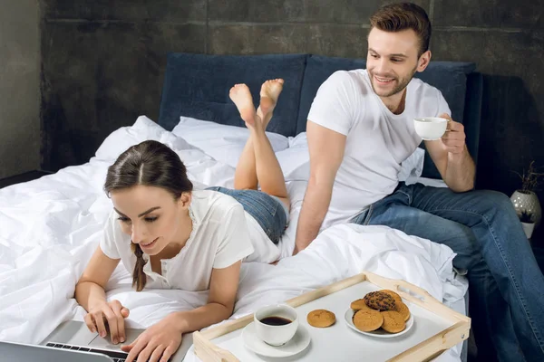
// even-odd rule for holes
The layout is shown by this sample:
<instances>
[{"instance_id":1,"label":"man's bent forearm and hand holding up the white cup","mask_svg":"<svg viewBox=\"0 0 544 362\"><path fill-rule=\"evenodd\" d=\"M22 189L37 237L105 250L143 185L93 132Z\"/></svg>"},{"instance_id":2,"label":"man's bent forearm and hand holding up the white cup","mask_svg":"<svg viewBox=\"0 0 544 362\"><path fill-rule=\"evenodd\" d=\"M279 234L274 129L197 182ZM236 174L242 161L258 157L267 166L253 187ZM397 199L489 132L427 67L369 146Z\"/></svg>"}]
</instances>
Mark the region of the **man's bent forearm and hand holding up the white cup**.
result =
<instances>
[{"instance_id":1,"label":"man's bent forearm and hand holding up the white cup","mask_svg":"<svg viewBox=\"0 0 544 362\"><path fill-rule=\"evenodd\" d=\"M449 119L448 131L442 139L425 141L425 148L447 186L455 192L469 191L474 188L476 167L465 144L464 127L447 114L440 117Z\"/></svg>"}]
</instances>

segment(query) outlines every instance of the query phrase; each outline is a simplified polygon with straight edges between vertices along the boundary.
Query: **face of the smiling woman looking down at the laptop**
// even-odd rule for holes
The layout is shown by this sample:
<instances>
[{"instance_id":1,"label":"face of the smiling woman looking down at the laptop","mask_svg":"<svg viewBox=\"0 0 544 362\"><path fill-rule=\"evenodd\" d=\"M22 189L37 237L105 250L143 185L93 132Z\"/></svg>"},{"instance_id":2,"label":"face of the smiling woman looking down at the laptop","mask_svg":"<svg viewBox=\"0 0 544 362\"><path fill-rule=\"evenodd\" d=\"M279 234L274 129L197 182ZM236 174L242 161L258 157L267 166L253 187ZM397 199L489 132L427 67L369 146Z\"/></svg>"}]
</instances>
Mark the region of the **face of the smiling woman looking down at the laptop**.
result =
<instances>
[{"instance_id":1,"label":"face of the smiling woman looking down at the laptop","mask_svg":"<svg viewBox=\"0 0 544 362\"><path fill-rule=\"evenodd\" d=\"M169 243L185 234L180 230L189 217L190 194L174 200L170 192L154 186L133 186L111 193L113 207L119 215L122 232L131 235L148 255L156 255Z\"/></svg>"}]
</instances>

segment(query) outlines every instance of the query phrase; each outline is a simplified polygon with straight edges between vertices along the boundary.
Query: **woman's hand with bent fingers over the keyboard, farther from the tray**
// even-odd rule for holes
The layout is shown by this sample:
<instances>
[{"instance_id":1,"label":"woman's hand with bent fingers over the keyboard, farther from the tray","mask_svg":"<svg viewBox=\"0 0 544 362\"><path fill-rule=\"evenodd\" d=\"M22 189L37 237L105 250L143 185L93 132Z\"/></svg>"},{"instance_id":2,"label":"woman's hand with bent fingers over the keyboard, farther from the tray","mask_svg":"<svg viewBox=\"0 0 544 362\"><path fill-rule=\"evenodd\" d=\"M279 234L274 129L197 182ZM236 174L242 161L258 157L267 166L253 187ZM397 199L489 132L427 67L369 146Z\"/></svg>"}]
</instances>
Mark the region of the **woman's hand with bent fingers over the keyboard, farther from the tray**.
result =
<instances>
[{"instance_id":1,"label":"woman's hand with bent fingers over the keyboard, farther from the tray","mask_svg":"<svg viewBox=\"0 0 544 362\"><path fill-rule=\"evenodd\" d=\"M112 334L112 343L122 343L126 335L124 319L129 317L129 310L121 305L119 300L105 301L92 306L84 317L87 327L92 332L98 332L101 337L106 337L108 331L105 322L108 323Z\"/></svg>"}]
</instances>

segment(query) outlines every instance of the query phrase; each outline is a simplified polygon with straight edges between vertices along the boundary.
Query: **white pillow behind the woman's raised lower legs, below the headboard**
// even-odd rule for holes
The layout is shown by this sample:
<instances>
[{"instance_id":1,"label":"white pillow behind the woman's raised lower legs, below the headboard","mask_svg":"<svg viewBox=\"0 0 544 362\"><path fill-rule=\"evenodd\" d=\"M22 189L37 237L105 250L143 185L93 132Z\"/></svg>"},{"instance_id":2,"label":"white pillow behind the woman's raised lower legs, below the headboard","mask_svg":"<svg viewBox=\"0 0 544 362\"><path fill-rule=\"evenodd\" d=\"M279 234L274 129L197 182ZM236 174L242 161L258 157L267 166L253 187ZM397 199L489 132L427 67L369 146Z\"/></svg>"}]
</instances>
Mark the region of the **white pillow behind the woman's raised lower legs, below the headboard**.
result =
<instances>
[{"instance_id":1,"label":"white pillow behind the woman's raised lower legs, below the headboard","mask_svg":"<svg viewBox=\"0 0 544 362\"><path fill-rule=\"evenodd\" d=\"M180 117L180 123L172 129L172 133L230 167L238 165L249 137L249 129L189 117ZM267 132L267 136L274 152L289 146L285 136L272 132Z\"/></svg>"}]
</instances>

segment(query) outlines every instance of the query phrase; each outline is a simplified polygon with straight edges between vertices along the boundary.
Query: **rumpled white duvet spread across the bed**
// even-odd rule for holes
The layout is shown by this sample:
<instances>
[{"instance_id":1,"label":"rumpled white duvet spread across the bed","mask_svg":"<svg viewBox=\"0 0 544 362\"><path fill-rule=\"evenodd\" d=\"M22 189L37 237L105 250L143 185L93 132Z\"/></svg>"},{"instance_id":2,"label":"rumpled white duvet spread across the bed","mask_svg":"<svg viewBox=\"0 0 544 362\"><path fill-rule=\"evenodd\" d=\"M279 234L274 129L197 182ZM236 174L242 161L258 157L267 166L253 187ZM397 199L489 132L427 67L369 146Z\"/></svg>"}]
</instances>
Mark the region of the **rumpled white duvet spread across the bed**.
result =
<instances>
[{"instance_id":1,"label":"rumpled white duvet spread across the bed","mask_svg":"<svg viewBox=\"0 0 544 362\"><path fill-rule=\"evenodd\" d=\"M184 132L191 142L189 129L177 133ZM197 185L232 186L234 167L228 160L215 159L225 153L207 152L206 142L189 144L141 117L132 127L114 131L88 163L0 189L0 340L39 343L63 320L82 319L84 310L73 300L73 291L112 207L102 192L106 169L122 151L145 139L173 148ZM288 139L286 145L281 140L273 145L292 198L292 222L278 245L284 259L277 266L242 265L232 318L363 270L409 281L464 314L466 281L455 277L455 254L444 245L384 226L341 224L321 233L306 251L289 256L306 190L304 142L301 136ZM122 265L108 290L108 298L121 300L131 310L128 324L134 327L148 327L171 311L193 309L207 298L205 292L132 291L130 275ZM460 352L457 346L440 358L459 360ZM189 353L186 359L197 358Z\"/></svg>"}]
</instances>

